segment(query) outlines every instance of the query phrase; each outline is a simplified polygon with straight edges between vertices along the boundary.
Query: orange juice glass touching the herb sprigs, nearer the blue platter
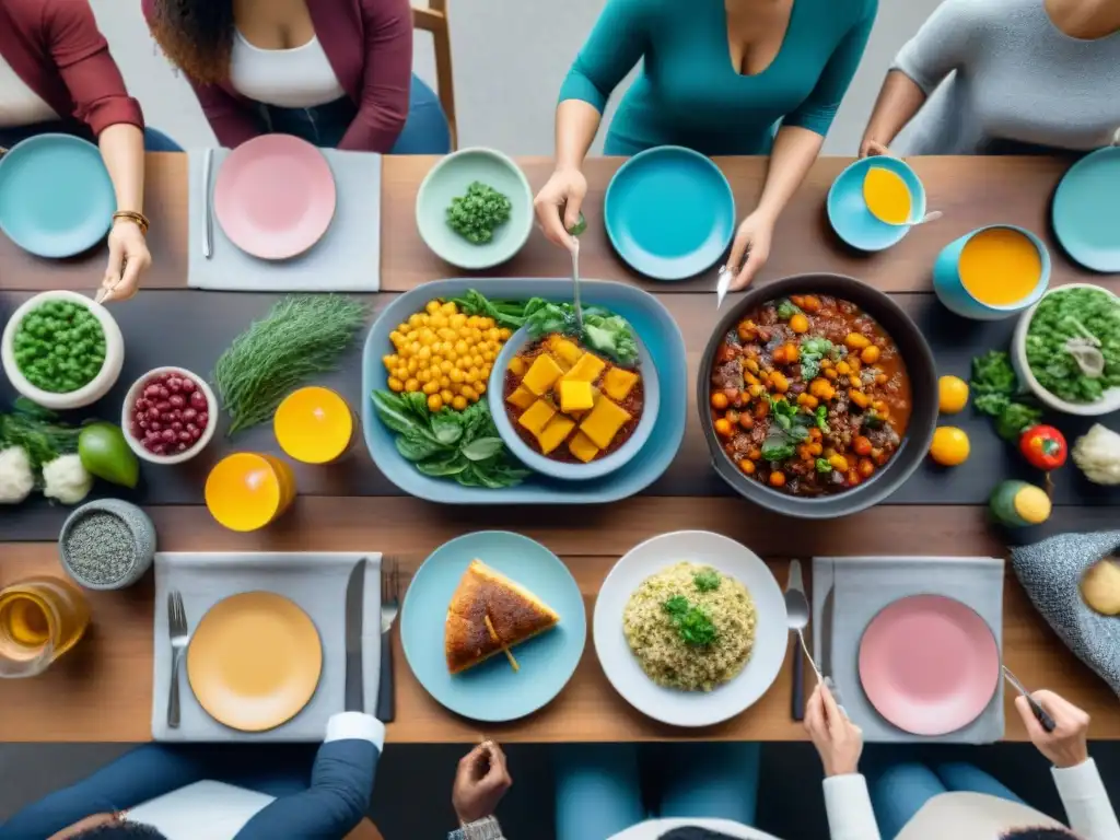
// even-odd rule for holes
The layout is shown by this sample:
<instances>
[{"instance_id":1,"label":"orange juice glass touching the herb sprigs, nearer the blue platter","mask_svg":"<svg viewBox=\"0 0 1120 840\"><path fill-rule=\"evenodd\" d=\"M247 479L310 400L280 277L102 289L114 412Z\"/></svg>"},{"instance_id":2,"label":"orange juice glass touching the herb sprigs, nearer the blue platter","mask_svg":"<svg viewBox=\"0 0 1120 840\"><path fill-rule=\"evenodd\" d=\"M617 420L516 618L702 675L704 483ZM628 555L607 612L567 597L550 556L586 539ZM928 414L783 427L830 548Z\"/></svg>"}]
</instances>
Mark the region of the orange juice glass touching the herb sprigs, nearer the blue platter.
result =
<instances>
[{"instance_id":1,"label":"orange juice glass touching the herb sprigs, nearer the blue platter","mask_svg":"<svg viewBox=\"0 0 1120 840\"><path fill-rule=\"evenodd\" d=\"M280 448L304 464L338 460L354 440L354 412L329 388L292 391L277 409L272 422Z\"/></svg>"}]
</instances>

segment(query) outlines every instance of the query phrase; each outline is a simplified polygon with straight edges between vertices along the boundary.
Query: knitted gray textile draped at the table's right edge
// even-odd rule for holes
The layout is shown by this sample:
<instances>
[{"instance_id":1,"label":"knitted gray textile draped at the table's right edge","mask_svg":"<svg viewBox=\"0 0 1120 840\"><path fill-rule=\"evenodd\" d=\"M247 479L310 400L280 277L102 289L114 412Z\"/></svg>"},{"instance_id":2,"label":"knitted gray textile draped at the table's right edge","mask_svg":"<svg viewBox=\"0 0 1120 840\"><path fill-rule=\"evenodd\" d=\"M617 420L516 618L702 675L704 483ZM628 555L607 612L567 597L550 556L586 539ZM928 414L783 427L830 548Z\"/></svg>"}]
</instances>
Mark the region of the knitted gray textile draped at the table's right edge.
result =
<instances>
[{"instance_id":1,"label":"knitted gray textile draped at the table's right edge","mask_svg":"<svg viewBox=\"0 0 1120 840\"><path fill-rule=\"evenodd\" d=\"M1082 662L1120 696L1120 617L1099 615L1081 599L1081 576L1120 548L1120 531L1062 534L1011 551L1011 566L1042 613Z\"/></svg>"}]
</instances>

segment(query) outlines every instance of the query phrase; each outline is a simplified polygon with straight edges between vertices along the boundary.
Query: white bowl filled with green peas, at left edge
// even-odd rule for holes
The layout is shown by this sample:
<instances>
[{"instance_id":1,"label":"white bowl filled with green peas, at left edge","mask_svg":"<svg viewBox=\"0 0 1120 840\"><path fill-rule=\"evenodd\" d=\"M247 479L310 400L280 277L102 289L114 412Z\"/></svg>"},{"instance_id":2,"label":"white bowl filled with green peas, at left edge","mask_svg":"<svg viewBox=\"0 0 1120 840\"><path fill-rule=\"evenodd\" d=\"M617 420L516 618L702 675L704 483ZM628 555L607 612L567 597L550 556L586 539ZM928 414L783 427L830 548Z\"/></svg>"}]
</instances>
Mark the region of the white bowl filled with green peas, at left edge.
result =
<instances>
[{"instance_id":1,"label":"white bowl filled with green peas, at left edge","mask_svg":"<svg viewBox=\"0 0 1120 840\"><path fill-rule=\"evenodd\" d=\"M96 402L116 383L124 338L100 304L73 291L45 291L12 312L0 357L19 393L66 411Z\"/></svg>"}]
</instances>

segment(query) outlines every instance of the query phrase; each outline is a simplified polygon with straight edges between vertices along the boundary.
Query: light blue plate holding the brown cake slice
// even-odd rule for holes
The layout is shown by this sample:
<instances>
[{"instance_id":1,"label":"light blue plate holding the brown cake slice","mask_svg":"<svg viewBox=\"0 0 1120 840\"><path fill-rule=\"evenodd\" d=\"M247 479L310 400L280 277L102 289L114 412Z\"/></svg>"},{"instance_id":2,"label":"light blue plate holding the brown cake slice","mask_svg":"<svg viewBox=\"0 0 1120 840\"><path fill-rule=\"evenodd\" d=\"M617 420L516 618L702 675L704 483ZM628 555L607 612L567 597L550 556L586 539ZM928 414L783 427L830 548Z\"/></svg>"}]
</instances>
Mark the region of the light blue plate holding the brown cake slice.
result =
<instances>
[{"instance_id":1,"label":"light blue plate holding the brown cake slice","mask_svg":"<svg viewBox=\"0 0 1120 840\"><path fill-rule=\"evenodd\" d=\"M469 671L447 671L447 606L472 560L482 560L560 614L560 624L513 647L521 665L491 656ZM445 543L417 571L401 609L404 656L420 684L451 711L474 720L515 720L552 700L571 679L587 641L579 586L563 562L534 540L508 531L479 531Z\"/></svg>"}]
</instances>

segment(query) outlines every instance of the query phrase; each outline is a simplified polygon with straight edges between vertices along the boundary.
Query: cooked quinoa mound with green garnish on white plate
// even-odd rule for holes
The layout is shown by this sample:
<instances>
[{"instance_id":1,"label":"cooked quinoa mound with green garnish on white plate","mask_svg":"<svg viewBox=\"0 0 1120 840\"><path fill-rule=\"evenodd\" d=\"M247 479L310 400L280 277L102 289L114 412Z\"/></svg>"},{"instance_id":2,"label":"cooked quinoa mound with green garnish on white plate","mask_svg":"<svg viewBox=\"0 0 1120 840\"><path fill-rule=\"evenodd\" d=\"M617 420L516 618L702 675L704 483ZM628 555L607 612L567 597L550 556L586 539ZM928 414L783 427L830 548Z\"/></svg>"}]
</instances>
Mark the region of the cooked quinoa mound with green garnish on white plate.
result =
<instances>
[{"instance_id":1,"label":"cooked quinoa mound with green garnish on white plate","mask_svg":"<svg viewBox=\"0 0 1120 840\"><path fill-rule=\"evenodd\" d=\"M715 589L697 585L697 575L719 576ZM671 598L687 598L716 627L707 645L685 643L665 609ZM738 580L710 566L678 563L642 581L623 613L623 632L642 670L659 685L711 691L732 680L750 659L755 642L755 604Z\"/></svg>"}]
</instances>

